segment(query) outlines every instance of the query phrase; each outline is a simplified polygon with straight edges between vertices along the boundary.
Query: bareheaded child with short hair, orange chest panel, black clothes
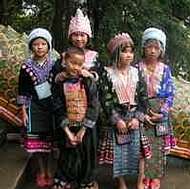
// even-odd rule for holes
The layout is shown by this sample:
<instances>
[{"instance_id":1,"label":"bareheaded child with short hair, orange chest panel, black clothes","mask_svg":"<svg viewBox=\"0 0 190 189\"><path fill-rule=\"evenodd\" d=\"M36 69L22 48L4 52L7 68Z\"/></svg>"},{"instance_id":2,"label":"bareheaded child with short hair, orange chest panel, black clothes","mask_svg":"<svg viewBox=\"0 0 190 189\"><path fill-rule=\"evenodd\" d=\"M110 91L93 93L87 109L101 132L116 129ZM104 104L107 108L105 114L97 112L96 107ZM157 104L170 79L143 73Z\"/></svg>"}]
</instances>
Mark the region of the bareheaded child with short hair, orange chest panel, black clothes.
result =
<instances>
[{"instance_id":1,"label":"bareheaded child with short hair, orange chest panel, black clothes","mask_svg":"<svg viewBox=\"0 0 190 189\"><path fill-rule=\"evenodd\" d=\"M94 79L83 76L84 51L70 48L62 67L64 77L52 86L60 155L53 189L95 189L98 95ZM90 73L89 73L90 74Z\"/></svg>"}]
</instances>

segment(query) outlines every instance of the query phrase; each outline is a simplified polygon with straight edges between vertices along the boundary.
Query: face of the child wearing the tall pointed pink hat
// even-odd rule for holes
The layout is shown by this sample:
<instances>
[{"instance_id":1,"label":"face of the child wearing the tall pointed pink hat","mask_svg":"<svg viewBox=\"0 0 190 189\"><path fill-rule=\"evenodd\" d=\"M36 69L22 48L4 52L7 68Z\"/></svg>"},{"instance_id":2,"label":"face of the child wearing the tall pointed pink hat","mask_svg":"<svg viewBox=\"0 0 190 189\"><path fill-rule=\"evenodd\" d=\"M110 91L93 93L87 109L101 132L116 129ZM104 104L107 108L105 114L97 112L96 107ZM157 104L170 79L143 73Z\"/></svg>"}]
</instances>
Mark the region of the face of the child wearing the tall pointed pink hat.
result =
<instances>
[{"instance_id":1,"label":"face of the child wearing the tall pointed pink hat","mask_svg":"<svg viewBox=\"0 0 190 189\"><path fill-rule=\"evenodd\" d=\"M71 34L71 42L75 47L85 48L88 42L88 35L83 32L75 32Z\"/></svg>"}]
</instances>

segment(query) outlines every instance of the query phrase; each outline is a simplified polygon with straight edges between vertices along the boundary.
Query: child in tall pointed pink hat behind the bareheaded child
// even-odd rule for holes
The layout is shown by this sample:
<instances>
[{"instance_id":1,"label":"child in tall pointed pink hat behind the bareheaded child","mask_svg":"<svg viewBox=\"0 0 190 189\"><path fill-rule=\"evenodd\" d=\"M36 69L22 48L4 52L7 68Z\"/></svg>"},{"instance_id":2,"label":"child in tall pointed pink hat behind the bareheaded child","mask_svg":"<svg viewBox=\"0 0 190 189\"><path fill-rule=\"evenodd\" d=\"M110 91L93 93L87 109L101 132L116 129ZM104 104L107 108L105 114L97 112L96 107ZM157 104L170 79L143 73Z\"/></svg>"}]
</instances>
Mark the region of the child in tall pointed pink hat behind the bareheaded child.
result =
<instances>
[{"instance_id":1,"label":"child in tall pointed pink hat behind the bareheaded child","mask_svg":"<svg viewBox=\"0 0 190 189\"><path fill-rule=\"evenodd\" d=\"M88 16L84 16L81 9L77 9L75 16L70 20L68 38L71 46L81 48L85 53L85 63L83 65L85 68L83 69L84 74L86 72L85 70L89 70L90 74L89 72L86 72L86 76L91 77L97 81L97 68L99 66L99 63L97 61L98 53L87 48L89 40L92 38L92 30ZM62 59L58 60L56 64L64 64L64 55L65 52L62 53ZM60 74L55 78L55 81L57 81L58 77L64 76Z\"/></svg>"}]
</instances>

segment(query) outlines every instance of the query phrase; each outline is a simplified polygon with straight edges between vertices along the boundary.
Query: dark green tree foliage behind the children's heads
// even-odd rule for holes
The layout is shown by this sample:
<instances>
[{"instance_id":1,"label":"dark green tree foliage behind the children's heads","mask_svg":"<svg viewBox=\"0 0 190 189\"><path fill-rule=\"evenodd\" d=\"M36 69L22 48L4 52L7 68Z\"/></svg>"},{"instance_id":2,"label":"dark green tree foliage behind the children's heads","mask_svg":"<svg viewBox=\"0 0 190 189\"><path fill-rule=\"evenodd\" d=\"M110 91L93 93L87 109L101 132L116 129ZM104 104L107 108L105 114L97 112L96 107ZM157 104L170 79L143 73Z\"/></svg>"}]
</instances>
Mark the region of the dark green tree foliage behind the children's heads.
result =
<instances>
[{"instance_id":1,"label":"dark green tree foliage behind the children's heads","mask_svg":"<svg viewBox=\"0 0 190 189\"><path fill-rule=\"evenodd\" d=\"M106 44L117 32L133 37L140 57L142 32L150 26L167 35L166 61L174 75L190 80L190 0L1 0L0 24L28 33L35 27L49 29L58 52L68 46L69 20L81 7L92 23L92 44L104 61Z\"/></svg>"}]
</instances>

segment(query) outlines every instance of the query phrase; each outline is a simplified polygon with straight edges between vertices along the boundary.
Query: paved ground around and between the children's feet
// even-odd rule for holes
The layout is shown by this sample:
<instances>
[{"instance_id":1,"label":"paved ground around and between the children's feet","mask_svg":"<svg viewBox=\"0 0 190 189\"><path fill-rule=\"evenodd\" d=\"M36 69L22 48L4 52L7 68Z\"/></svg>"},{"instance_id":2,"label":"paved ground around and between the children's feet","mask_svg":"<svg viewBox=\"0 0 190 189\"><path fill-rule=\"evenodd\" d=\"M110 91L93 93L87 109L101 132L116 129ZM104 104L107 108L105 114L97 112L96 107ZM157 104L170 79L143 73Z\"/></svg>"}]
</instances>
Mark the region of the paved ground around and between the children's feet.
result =
<instances>
[{"instance_id":1,"label":"paved ground around and between the children's feet","mask_svg":"<svg viewBox=\"0 0 190 189\"><path fill-rule=\"evenodd\" d=\"M31 176L30 179L23 177L21 184L15 187L25 168L27 157L18 144L9 143L6 148L0 148L0 189L37 189ZM168 170L161 189L189 189L190 160L174 157L168 159ZM26 173L31 173L31 169L27 169ZM97 180L100 189L116 188L111 178L111 167L99 167ZM129 181L129 189L135 189L135 178L127 178L127 180Z\"/></svg>"}]
</instances>

